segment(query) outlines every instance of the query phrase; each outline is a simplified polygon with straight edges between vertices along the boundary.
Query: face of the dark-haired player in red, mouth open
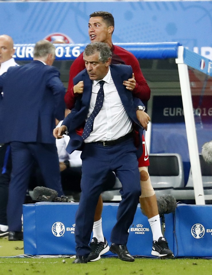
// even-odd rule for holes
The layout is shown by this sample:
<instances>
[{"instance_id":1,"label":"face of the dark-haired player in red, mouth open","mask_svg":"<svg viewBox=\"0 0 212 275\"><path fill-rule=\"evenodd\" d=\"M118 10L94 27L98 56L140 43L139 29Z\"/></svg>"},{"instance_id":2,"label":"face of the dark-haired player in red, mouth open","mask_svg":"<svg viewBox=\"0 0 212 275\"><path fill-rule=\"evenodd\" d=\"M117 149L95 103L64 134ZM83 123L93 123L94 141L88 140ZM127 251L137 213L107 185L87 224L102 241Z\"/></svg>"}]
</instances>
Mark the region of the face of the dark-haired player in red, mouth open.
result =
<instances>
[{"instance_id":1,"label":"face of the dark-haired player in red, mouth open","mask_svg":"<svg viewBox=\"0 0 212 275\"><path fill-rule=\"evenodd\" d=\"M90 42L104 42L107 43L111 39L113 27L107 27L102 17L91 17L88 22L88 35Z\"/></svg>"}]
</instances>

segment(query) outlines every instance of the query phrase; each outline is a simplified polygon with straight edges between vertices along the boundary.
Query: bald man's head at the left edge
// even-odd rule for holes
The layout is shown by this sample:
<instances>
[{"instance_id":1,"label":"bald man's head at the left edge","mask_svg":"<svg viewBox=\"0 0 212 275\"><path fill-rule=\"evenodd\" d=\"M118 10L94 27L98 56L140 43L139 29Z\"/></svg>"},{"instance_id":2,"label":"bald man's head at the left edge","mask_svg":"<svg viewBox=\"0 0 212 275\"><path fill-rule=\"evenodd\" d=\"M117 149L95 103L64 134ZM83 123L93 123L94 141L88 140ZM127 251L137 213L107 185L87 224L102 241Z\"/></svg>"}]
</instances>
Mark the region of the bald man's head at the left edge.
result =
<instances>
[{"instance_id":1,"label":"bald man's head at the left edge","mask_svg":"<svg viewBox=\"0 0 212 275\"><path fill-rule=\"evenodd\" d=\"M13 39L6 34L0 35L0 64L11 59L14 52Z\"/></svg>"}]
</instances>

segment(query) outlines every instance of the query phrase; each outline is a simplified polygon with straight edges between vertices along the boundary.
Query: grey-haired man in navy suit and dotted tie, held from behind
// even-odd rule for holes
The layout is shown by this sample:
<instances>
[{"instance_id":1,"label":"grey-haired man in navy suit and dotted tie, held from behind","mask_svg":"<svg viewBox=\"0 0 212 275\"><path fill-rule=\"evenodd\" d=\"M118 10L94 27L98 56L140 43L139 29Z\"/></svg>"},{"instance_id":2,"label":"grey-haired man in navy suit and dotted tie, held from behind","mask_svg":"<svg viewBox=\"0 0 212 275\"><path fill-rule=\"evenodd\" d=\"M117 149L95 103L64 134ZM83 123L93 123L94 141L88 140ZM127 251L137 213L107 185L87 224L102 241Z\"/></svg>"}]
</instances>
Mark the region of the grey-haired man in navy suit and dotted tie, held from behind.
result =
<instances>
[{"instance_id":1,"label":"grey-haired man in navy suit and dotted tie, held from behind","mask_svg":"<svg viewBox=\"0 0 212 275\"><path fill-rule=\"evenodd\" d=\"M56 138L62 138L68 130L68 153L82 149L82 193L76 214L76 260L73 263L87 263L95 208L109 171L114 171L122 183L122 200L111 233L110 251L118 254L121 260L132 262L134 258L126 244L141 192L136 153L142 152L142 143L136 148L133 136L135 132L140 137L143 133L132 93L126 89L128 85L135 86L135 82L128 84L125 81L132 78L132 68L110 65L110 48L100 42L86 46L84 61L86 69L74 78L74 84L83 81L83 94L77 97L75 108L62 126L53 132ZM99 95L102 85L104 98Z\"/></svg>"}]
</instances>

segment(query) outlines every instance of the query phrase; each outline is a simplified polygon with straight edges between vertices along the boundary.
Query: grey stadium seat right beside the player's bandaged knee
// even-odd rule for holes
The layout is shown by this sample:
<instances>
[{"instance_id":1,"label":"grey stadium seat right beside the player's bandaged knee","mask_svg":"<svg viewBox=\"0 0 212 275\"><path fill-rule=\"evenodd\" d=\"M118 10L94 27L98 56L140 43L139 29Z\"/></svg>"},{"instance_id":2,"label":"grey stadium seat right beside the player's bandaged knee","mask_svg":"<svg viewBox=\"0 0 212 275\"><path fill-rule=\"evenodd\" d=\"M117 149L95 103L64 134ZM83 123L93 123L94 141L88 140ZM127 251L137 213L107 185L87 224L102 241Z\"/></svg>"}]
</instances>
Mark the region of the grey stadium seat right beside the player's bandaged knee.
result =
<instances>
[{"instance_id":1,"label":"grey stadium seat right beside the player's bandaged knee","mask_svg":"<svg viewBox=\"0 0 212 275\"><path fill-rule=\"evenodd\" d=\"M156 197L171 195L173 188L184 186L183 162L179 154L149 154L148 168Z\"/></svg>"}]
</instances>

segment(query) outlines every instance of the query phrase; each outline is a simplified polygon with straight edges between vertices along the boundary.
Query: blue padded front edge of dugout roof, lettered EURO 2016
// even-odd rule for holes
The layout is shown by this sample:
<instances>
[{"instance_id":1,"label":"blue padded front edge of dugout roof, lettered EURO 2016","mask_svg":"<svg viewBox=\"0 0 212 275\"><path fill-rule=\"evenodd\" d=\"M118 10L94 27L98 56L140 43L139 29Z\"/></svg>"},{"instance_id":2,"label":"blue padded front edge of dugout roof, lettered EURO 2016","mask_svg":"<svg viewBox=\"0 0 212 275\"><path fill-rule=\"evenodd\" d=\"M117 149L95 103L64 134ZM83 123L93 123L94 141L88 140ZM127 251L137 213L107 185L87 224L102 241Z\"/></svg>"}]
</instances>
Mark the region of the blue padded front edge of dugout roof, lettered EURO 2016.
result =
<instances>
[{"instance_id":1,"label":"blue padded front edge of dugout roof, lettered EURO 2016","mask_svg":"<svg viewBox=\"0 0 212 275\"><path fill-rule=\"evenodd\" d=\"M74 60L87 44L54 44L56 47L56 60ZM114 43L142 59L166 59L177 58L178 42L161 43ZM15 44L15 60L32 60L35 44Z\"/></svg>"}]
</instances>

